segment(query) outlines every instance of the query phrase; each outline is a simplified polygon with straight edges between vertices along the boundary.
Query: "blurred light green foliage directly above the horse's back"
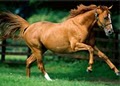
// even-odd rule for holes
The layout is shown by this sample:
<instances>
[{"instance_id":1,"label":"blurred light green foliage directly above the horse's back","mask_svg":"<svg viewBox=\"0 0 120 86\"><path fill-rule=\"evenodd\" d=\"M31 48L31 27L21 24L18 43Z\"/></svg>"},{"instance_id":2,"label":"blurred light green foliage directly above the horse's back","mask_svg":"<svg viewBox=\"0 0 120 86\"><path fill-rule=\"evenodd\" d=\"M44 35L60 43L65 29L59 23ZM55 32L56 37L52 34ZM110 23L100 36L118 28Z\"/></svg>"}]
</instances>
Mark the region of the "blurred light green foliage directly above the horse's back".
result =
<instances>
[{"instance_id":1,"label":"blurred light green foliage directly above the horse's back","mask_svg":"<svg viewBox=\"0 0 120 86\"><path fill-rule=\"evenodd\" d=\"M67 18L68 12L57 11L49 8L42 8L37 10L30 18L28 18L29 23L34 23L38 21L51 21L51 22L62 22Z\"/></svg>"}]
</instances>

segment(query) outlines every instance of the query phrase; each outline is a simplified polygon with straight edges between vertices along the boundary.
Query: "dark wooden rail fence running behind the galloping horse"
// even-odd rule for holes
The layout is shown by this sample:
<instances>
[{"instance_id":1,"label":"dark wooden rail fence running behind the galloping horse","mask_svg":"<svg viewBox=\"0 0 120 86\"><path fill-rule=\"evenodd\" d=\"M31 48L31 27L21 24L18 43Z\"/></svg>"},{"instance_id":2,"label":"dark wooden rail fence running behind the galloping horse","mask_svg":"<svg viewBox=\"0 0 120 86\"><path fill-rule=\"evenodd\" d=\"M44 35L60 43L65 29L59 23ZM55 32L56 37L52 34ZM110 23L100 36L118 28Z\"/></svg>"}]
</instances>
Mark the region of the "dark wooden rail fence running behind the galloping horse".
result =
<instances>
[{"instance_id":1,"label":"dark wooden rail fence running behind the galloping horse","mask_svg":"<svg viewBox=\"0 0 120 86\"><path fill-rule=\"evenodd\" d=\"M110 55L110 59L112 59L113 62L115 62L117 65L120 64L120 30L115 31L114 37L108 38L104 35L104 31L97 31L96 30L96 42L98 44L98 47L103 52L107 53L107 55ZM8 44L6 42L7 40L4 40L0 44L0 54L1 54L1 62L5 61L6 55L26 55L29 56L31 51L25 44ZM17 41L17 40L16 40ZM17 48L27 48L27 50L22 52L7 52L7 47L17 47ZM48 54L45 55L57 55L57 56L69 56L74 58L80 58L85 59L83 56L79 56L77 54Z\"/></svg>"}]
</instances>

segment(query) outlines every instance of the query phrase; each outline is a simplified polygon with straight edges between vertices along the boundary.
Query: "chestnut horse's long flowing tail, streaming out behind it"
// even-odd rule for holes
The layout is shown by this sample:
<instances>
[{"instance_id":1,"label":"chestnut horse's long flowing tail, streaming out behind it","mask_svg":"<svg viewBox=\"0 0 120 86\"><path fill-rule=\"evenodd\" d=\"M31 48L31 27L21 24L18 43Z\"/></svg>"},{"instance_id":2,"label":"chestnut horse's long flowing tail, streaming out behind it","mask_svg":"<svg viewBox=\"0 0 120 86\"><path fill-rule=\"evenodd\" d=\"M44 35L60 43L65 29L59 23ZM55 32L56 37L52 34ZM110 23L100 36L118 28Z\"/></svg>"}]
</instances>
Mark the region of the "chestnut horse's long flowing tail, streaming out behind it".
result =
<instances>
[{"instance_id":1,"label":"chestnut horse's long flowing tail, streaming out behind it","mask_svg":"<svg viewBox=\"0 0 120 86\"><path fill-rule=\"evenodd\" d=\"M0 12L0 39L21 37L30 24L11 12ZM17 34L20 31L20 34Z\"/></svg>"}]
</instances>

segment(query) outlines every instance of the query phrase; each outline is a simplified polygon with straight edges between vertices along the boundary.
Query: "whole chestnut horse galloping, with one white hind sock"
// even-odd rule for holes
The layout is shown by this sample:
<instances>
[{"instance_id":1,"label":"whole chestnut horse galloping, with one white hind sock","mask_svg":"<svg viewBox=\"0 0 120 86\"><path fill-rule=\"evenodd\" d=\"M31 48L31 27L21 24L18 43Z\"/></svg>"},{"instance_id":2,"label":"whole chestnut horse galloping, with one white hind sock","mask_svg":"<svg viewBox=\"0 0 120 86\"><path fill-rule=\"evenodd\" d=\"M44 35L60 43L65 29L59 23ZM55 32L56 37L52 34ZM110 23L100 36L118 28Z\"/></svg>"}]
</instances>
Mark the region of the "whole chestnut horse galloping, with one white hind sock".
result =
<instances>
[{"instance_id":1,"label":"whole chestnut horse galloping, with one white hind sock","mask_svg":"<svg viewBox=\"0 0 120 86\"><path fill-rule=\"evenodd\" d=\"M93 55L103 59L116 75L119 70L108 57L95 46L93 28L95 24L105 30L107 36L113 33L110 17L111 7L96 5L79 5L77 9L70 11L70 16L62 23L36 22L29 24L26 20L10 12L0 13L1 39L13 37L17 30L32 55L26 60L26 73L30 76L30 64L37 61L38 68L47 80L52 80L47 74L42 61L42 55L46 50L56 53L73 53L81 50L89 51L89 66L87 71L92 71Z\"/></svg>"}]
</instances>

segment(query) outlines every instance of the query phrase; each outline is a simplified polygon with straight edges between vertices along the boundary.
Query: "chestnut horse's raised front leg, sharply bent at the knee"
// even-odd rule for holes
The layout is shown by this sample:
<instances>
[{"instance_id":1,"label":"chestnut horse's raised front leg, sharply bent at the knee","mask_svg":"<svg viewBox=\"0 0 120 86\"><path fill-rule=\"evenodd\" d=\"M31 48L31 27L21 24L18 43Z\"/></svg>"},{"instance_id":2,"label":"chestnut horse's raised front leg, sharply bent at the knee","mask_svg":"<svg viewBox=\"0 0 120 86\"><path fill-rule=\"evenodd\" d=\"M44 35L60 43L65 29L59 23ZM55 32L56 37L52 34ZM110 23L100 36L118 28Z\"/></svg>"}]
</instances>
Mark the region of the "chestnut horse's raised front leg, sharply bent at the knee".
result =
<instances>
[{"instance_id":1,"label":"chestnut horse's raised front leg, sharply bent at the knee","mask_svg":"<svg viewBox=\"0 0 120 86\"><path fill-rule=\"evenodd\" d=\"M75 51L80 51L80 50L88 50L89 51L90 56L89 56L89 66L87 67L87 72L91 72L92 64L93 64L93 48L84 43L76 43Z\"/></svg>"}]
</instances>

